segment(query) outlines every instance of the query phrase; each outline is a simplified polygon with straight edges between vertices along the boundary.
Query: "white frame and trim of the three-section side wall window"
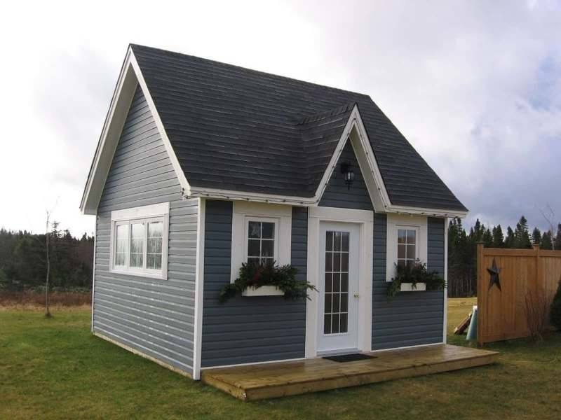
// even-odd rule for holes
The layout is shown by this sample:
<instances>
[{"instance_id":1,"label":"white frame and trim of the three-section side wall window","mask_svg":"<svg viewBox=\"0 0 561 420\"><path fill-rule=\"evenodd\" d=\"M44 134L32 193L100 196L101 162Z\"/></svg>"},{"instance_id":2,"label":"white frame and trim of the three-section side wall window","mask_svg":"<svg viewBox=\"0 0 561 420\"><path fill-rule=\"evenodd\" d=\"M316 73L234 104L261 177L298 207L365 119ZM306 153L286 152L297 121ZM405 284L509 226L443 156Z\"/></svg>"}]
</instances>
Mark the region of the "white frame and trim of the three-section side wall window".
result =
<instances>
[{"instance_id":1,"label":"white frame and trim of the three-section side wall window","mask_svg":"<svg viewBox=\"0 0 561 420\"><path fill-rule=\"evenodd\" d=\"M116 274L125 274L127 276L149 277L151 279L168 279L168 233L169 233L169 217L170 217L170 203L152 204L149 206L133 207L130 209L111 211L111 235L109 241L109 272ZM131 268L128 266L130 261L130 239L129 248L127 250L129 258L125 266L115 265L115 241L116 241L116 227L126 223L143 222L149 223L154 221L163 222L162 232L162 268L161 269L148 269L148 268ZM128 232L130 238L130 229ZM146 264L146 251L147 251L147 226L144 228L144 258L143 262Z\"/></svg>"}]
</instances>

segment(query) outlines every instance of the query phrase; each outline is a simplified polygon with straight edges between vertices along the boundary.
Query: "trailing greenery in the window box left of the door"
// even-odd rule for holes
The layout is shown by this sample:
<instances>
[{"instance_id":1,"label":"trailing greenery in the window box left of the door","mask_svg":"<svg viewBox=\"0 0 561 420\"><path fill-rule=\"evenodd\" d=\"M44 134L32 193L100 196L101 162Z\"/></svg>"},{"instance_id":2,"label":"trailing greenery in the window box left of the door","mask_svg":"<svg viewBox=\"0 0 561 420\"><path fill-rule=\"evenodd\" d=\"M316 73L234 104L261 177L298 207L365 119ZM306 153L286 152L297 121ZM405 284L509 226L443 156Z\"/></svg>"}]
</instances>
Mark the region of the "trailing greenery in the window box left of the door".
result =
<instances>
[{"instance_id":1,"label":"trailing greenery in the window box left of the door","mask_svg":"<svg viewBox=\"0 0 561 420\"><path fill-rule=\"evenodd\" d=\"M292 265L276 265L276 261L243 262L234 283L220 290L219 302L226 302L247 288L276 286L284 292L285 299L309 299L308 290L317 290L305 280L297 280L298 270Z\"/></svg>"}]
</instances>

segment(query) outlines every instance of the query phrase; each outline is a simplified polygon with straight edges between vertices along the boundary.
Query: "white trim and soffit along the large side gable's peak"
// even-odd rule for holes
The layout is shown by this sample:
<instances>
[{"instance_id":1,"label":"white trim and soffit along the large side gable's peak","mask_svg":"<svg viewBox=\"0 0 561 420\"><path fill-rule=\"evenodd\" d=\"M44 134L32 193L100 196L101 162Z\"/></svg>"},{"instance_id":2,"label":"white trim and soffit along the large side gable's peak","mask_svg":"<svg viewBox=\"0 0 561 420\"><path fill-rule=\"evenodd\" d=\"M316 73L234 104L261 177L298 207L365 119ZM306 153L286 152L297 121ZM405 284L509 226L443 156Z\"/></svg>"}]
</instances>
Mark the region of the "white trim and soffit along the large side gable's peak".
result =
<instances>
[{"instance_id":1,"label":"white trim and soffit along the large side gable's peak","mask_svg":"<svg viewBox=\"0 0 561 420\"><path fill-rule=\"evenodd\" d=\"M189 195L190 186L187 182L187 178L173 151L170 139L168 139L168 134L165 132L163 123L158 115L146 82L144 81L142 71L140 71L133 50L129 47L125 56L125 61L121 67L121 72L119 73L119 79L117 80L113 97L111 97L111 104L109 105L109 111L107 111L107 117L103 124L100 140L95 149L92 166L88 174L88 180L86 181L86 188L84 188L83 191L80 203L80 210L83 214L97 213L97 206L101 200L103 188L107 181L107 175L111 168L111 162L113 161L113 156L119 144L123 125L125 124L137 85L140 85L142 93L146 98L156 127L158 127L158 131L160 132L165 150L168 152L173 169L175 169L177 179L180 181L184 192Z\"/></svg>"}]
</instances>

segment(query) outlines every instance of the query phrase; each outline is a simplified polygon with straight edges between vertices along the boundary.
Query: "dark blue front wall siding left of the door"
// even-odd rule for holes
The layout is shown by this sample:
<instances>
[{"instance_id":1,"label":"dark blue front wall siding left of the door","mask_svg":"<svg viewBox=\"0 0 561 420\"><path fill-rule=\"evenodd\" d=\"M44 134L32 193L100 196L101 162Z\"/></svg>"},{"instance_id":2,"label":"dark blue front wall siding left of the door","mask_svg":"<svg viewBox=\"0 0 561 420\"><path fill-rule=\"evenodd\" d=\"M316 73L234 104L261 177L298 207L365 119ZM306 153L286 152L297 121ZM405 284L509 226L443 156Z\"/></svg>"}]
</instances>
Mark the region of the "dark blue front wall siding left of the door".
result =
<instances>
[{"instance_id":1,"label":"dark blue front wall siding left of the door","mask_svg":"<svg viewBox=\"0 0 561 420\"><path fill-rule=\"evenodd\" d=\"M201 367L304 357L306 303L279 296L218 302L230 282L232 203L208 200ZM307 211L292 209L292 265L306 276Z\"/></svg>"}]
</instances>

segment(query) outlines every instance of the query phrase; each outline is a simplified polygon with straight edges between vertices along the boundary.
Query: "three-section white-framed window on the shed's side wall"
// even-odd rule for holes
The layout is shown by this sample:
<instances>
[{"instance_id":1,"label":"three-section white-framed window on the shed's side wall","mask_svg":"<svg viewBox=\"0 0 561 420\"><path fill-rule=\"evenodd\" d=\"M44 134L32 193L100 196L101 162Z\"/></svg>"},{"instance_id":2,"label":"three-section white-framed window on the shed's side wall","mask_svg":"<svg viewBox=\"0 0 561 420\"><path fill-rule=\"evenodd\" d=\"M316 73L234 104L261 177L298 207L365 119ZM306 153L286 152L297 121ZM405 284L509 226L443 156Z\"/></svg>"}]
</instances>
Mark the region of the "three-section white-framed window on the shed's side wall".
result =
<instances>
[{"instance_id":1,"label":"three-section white-framed window on the shed's side wall","mask_svg":"<svg viewBox=\"0 0 561 420\"><path fill-rule=\"evenodd\" d=\"M113 253L114 271L126 274L163 276L164 218L114 221Z\"/></svg>"}]
</instances>

